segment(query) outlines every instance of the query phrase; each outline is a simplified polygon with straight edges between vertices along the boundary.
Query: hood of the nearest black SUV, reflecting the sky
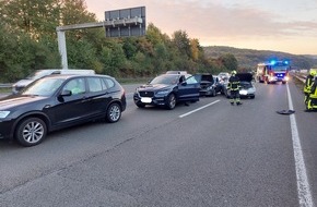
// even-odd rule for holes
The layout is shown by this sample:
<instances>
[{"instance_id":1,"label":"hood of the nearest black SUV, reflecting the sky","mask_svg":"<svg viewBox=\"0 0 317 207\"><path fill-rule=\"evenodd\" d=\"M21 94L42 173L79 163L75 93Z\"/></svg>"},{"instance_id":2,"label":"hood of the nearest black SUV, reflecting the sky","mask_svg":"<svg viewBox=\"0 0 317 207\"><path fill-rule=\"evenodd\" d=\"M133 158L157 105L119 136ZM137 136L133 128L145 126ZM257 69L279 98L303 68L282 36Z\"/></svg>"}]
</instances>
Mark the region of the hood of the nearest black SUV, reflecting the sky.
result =
<instances>
[{"instance_id":1,"label":"hood of the nearest black SUV, reflecting the sky","mask_svg":"<svg viewBox=\"0 0 317 207\"><path fill-rule=\"evenodd\" d=\"M23 96L23 95L11 95L0 99L0 110L11 109L15 107L21 107L23 105L31 105L35 101L46 99L43 96Z\"/></svg>"}]
</instances>

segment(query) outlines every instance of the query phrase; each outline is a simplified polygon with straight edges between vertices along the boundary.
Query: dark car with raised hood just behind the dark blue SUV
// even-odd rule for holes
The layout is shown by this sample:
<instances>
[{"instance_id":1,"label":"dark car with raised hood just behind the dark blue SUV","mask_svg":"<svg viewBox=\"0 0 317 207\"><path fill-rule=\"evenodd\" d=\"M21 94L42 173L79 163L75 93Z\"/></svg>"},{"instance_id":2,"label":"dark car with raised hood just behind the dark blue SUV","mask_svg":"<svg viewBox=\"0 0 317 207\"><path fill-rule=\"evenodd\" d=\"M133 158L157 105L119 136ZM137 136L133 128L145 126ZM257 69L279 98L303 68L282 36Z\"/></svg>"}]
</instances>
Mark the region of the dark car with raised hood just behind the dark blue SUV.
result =
<instances>
[{"instance_id":1,"label":"dark car with raised hood just behind the dark blue SUV","mask_svg":"<svg viewBox=\"0 0 317 207\"><path fill-rule=\"evenodd\" d=\"M216 96L215 80L210 73L199 73L193 75L200 84L200 96Z\"/></svg>"}]
</instances>

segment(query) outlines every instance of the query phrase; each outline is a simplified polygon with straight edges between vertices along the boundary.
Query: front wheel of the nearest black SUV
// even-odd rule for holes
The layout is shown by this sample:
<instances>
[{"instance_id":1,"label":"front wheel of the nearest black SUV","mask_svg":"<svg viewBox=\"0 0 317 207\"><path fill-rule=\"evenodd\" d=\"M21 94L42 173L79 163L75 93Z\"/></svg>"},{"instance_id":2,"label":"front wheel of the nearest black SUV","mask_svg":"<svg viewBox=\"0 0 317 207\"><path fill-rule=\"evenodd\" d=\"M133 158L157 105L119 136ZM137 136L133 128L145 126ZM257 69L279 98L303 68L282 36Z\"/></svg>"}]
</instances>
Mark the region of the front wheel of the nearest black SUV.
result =
<instances>
[{"instance_id":1,"label":"front wheel of the nearest black SUV","mask_svg":"<svg viewBox=\"0 0 317 207\"><path fill-rule=\"evenodd\" d=\"M46 123L39 118L27 118L19 123L15 131L16 141L25 147L38 145L47 134Z\"/></svg>"}]
</instances>

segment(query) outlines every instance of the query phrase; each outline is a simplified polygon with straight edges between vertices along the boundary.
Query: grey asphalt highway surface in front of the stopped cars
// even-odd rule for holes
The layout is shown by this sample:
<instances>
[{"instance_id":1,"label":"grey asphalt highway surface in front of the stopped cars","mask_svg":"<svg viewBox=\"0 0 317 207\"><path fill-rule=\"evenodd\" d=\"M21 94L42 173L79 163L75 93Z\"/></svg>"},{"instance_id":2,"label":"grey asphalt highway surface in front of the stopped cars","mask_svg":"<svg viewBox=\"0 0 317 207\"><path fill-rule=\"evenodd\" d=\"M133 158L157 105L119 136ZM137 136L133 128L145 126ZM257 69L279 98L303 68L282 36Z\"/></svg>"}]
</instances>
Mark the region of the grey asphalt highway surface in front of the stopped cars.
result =
<instances>
[{"instance_id":1,"label":"grey asphalt highway surface in front of the stopped cars","mask_svg":"<svg viewBox=\"0 0 317 207\"><path fill-rule=\"evenodd\" d=\"M55 132L31 148L0 141L0 206L317 203L317 113L304 111L292 82L256 84L242 106L219 95L174 110L139 109L136 86L125 87L118 123ZM277 113L287 109L295 113Z\"/></svg>"}]
</instances>

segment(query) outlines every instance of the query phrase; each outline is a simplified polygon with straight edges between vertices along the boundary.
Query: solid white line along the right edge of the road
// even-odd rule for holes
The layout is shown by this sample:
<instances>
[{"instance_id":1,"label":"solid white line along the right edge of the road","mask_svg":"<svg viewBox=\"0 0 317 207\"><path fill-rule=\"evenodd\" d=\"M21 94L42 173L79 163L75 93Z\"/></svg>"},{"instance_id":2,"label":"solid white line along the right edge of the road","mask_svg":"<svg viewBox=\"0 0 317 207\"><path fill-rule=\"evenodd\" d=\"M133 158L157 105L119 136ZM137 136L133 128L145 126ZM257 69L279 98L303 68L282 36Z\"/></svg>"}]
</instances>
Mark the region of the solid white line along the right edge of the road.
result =
<instances>
[{"instance_id":1,"label":"solid white line along the right edge of the road","mask_svg":"<svg viewBox=\"0 0 317 207\"><path fill-rule=\"evenodd\" d=\"M289 95L289 108L290 110L293 110L293 102L292 102L289 84L286 85L286 87L287 87L287 95ZM313 207L314 204L313 204L313 198L310 194L303 150L301 146L300 135L298 135L297 124L296 124L296 119L295 119L294 113L290 115L290 121L291 121L291 129L292 129L292 139L293 139L293 149L294 149L294 158L295 158L300 206Z\"/></svg>"}]
</instances>

